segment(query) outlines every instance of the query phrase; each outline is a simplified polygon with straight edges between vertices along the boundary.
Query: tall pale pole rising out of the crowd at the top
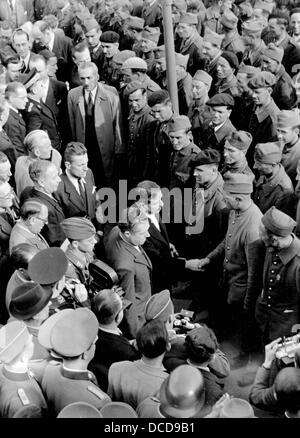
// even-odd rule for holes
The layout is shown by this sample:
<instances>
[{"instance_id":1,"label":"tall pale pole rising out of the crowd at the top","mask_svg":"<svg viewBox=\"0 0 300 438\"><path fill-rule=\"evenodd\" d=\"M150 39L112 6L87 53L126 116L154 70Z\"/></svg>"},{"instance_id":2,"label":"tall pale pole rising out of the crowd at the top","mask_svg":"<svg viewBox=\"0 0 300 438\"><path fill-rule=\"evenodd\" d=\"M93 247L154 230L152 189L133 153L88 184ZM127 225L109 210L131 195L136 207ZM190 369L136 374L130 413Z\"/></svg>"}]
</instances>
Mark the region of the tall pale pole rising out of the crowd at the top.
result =
<instances>
[{"instance_id":1,"label":"tall pale pole rising out of the crowd at the top","mask_svg":"<svg viewBox=\"0 0 300 438\"><path fill-rule=\"evenodd\" d=\"M167 79L168 89L173 105L173 111L175 115L179 114L178 105L178 91L176 80L176 62L175 62L175 49L174 49L174 33L172 23L172 0L162 0L163 10L163 25L164 25L164 41L166 49L166 63L167 63Z\"/></svg>"}]
</instances>

